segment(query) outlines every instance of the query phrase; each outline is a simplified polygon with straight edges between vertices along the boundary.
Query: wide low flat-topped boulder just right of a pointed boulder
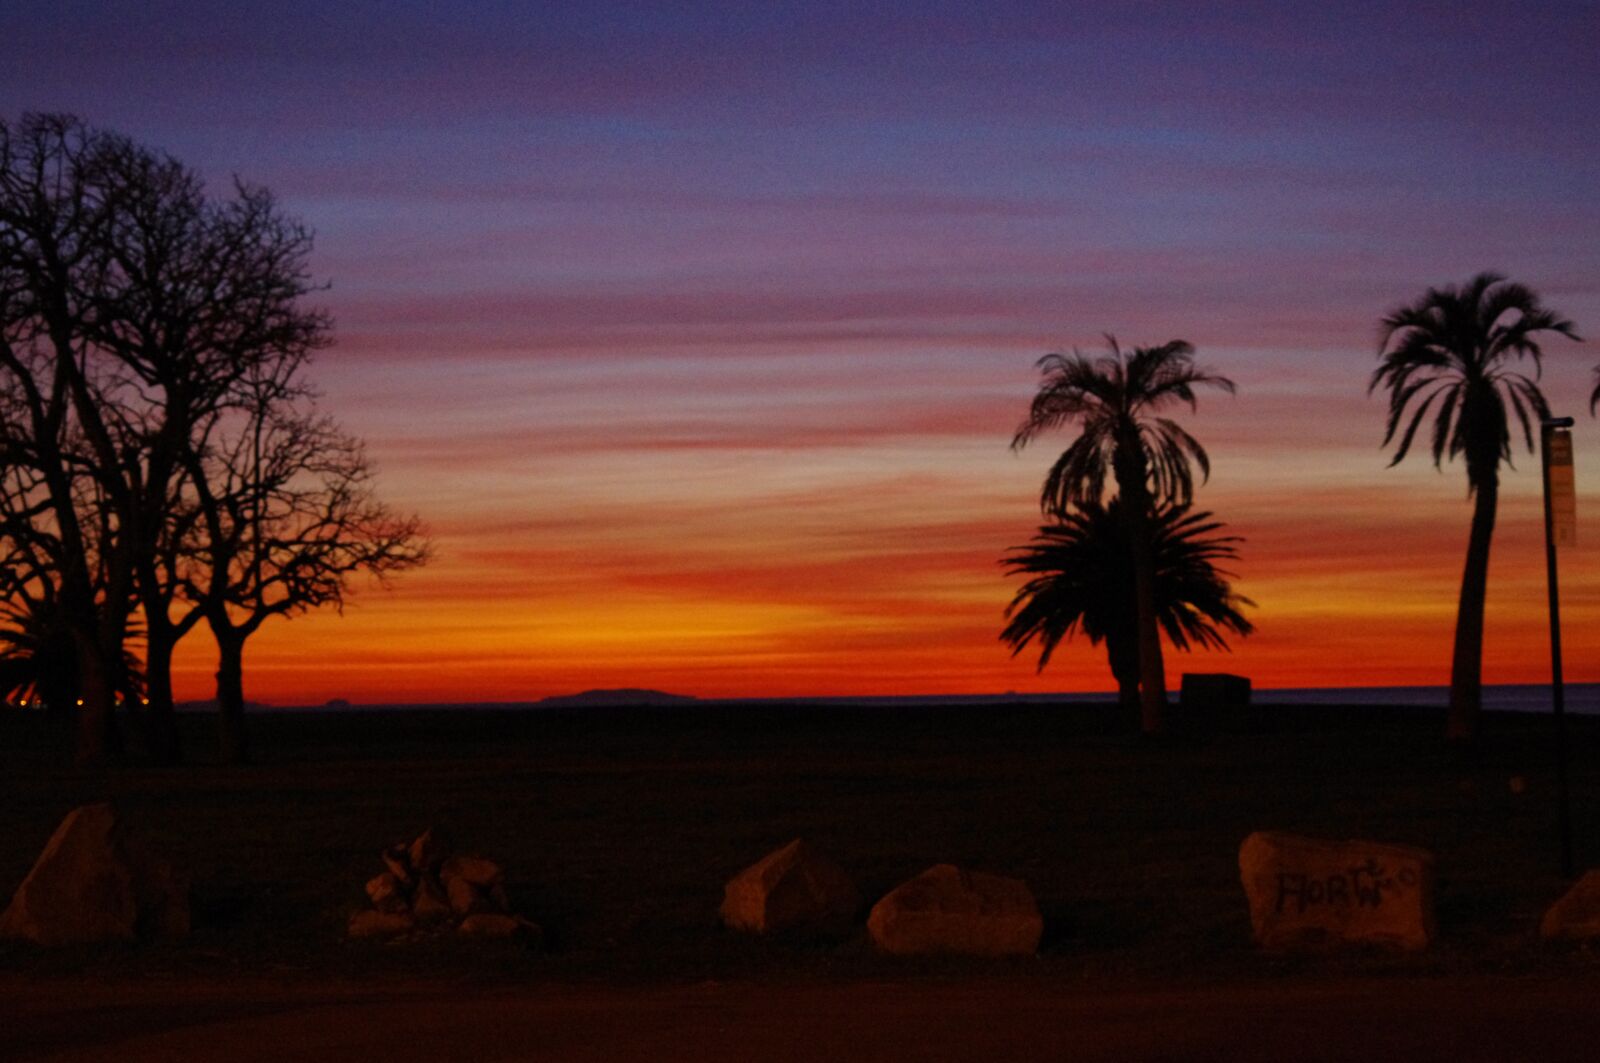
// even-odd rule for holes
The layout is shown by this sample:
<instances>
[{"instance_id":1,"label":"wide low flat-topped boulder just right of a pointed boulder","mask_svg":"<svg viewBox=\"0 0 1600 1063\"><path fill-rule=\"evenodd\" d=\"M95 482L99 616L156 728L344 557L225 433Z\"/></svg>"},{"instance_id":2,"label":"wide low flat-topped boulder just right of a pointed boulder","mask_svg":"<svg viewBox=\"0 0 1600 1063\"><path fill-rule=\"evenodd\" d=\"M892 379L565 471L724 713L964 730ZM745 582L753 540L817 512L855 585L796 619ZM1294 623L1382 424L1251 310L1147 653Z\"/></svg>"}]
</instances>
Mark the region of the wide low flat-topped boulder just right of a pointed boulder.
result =
<instances>
[{"instance_id":1,"label":"wide low flat-topped boulder just right of a pointed boulder","mask_svg":"<svg viewBox=\"0 0 1600 1063\"><path fill-rule=\"evenodd\" d=\"M934 864L894 887L867 916L872 943L898 956L1027 956L1043 930L1026 882L954 864Z\"/></svg>"}]
</instances>

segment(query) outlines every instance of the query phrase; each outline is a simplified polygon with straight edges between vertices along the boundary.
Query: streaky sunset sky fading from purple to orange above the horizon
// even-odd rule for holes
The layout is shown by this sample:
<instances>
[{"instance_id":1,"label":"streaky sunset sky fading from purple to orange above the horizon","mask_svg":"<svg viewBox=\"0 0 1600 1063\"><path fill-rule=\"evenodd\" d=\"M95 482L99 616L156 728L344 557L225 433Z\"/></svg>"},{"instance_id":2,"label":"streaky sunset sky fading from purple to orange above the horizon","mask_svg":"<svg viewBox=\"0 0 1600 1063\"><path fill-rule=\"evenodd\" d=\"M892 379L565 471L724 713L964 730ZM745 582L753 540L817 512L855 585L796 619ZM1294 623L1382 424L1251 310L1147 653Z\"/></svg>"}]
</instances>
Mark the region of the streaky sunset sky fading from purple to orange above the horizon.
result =
<instances>
[{"instance_id":1,"label":"streaky sunset sky fading from purple to orange above the horizon","mask_svg":"<svg viewBox=\"0 0 1600 1063\"><path fill-rule=\"evenodd\" d=\"M69 110L317 232L314 367L437 560L246 650L275 703L1106 690L997 640L1046 351L1192 341L1258 687L1443 684L1464 469L1387 469L1376 322L1496 269L1587 343L1568 676L1600 680L1600 5L0 5ZM242 5L240 5L242 6ZM1218 14L1210 8L1219 6ZM1203 11L1203 8L1206 11ZM1538 458L1490 682L1547 677ZM208 696L200 631L179 696Z\"/></svg>"}]
</instances>

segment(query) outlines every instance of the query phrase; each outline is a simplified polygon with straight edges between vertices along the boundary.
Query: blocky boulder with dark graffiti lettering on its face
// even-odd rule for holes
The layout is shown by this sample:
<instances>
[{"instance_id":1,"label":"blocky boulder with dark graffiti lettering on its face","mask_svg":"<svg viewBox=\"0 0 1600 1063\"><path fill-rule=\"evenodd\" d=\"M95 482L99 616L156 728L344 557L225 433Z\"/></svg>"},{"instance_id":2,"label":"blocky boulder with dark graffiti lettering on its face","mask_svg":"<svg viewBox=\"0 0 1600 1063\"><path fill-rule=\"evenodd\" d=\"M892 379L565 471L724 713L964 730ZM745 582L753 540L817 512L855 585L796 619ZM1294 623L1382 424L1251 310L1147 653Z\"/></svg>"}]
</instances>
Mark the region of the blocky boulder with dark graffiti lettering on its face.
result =
<instances>
[{"instance_id":1,"label":"blocky boulder with dark graffiti lettering on its face","mask_svg":"<svg viewBox=\"0 0 1600 1063\"><path fill-rule=\"evenodd\" d=\"M1434 940L1434 855L1411 845L1256 831L1238 847L1256 943L1424 949Z\"/></svg>"}]
</instances>

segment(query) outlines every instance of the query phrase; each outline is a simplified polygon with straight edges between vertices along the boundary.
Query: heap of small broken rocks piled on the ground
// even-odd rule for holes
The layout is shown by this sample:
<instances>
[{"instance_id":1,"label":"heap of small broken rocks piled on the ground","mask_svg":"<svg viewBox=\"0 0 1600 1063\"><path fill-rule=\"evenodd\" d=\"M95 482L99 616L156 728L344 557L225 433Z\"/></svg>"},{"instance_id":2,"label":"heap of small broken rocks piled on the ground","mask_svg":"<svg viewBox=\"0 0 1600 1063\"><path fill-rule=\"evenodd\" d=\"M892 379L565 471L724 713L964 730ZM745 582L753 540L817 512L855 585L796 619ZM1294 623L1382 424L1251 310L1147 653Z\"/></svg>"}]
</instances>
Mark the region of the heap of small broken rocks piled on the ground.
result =
<instances>
[{"instance_id":1,"label":"heap of small broken rocks piled on the ground","mask_svg":"<svg viewBox=\"0 0 1600 1063\"><path fill-rule=\"evenodd\" d=\"M451 855L424 831L382 852L384 871L366 884L371 908L354 916L352 938L398 938L454 930L478 938L533 938L539 927L510 909L506 871L493 860Z\"/></svg>"}]
</instances>

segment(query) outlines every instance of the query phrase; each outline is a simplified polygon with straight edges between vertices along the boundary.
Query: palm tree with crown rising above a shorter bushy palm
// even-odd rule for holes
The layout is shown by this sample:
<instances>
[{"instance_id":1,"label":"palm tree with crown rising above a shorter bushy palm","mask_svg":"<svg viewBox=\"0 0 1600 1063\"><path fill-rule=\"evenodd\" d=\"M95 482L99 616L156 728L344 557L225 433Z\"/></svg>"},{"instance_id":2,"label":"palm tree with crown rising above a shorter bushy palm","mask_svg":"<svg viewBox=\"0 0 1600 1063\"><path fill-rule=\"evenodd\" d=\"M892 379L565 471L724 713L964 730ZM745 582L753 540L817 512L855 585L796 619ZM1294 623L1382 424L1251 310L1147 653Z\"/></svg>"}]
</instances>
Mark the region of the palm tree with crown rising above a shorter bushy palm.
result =
<instances>
[{"instance_id":1,"label":"palm tree with crown rising above a shorter bushy palm","mask_svg":"<svg viewBox=\"0 0 1600 1063\"><path fill-rule=\"evenodd\" d=\"M1157 626L1150 514L1157 506L1187 504L1194 498L1190 459L1203 477L1211 472L1205 448L1158 411L1179 402L1192 410L1200 386L1232 394L1234 381L1197 367L1194 347L1182 339L1128 352L1117 346L1115 336L1106 341L1107 354L1096 359L1074 351L1038 360L1043 381L1011 448L1021 450L1048 429L1078 426L1078 437L1045 477L1038 504L1046 514L1064 517L1072 504L1101 503L1107 477L1115 483L1123 499L1123 538L1133 551L1141 725L1146 733L1158 733L1166 708L1166 669Z\"/></svg>"}]
</instances>

